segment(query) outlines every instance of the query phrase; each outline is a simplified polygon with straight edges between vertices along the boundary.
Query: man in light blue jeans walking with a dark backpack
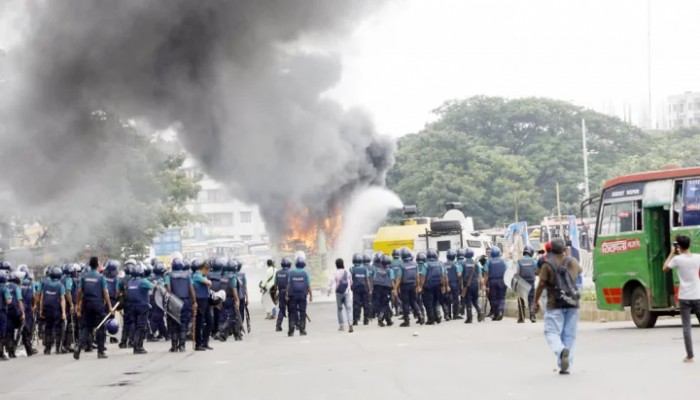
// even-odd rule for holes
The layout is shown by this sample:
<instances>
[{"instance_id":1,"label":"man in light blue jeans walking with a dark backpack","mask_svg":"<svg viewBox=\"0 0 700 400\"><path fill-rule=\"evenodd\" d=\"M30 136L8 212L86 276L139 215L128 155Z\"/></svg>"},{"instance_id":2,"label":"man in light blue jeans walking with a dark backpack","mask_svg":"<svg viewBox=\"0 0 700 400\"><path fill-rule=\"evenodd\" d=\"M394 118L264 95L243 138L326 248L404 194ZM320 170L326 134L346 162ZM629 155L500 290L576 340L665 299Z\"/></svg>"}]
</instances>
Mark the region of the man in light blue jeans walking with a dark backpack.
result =
<instances>
[{"instance_id":1,"label":"man in light blue jeans walking with a dark backpack","mask_svg":"<svg viewBox=\"0 0 700 400\"><path fill-rule=\"evenodd\" d=\"M559 373L569 374L573 364L576 330L579 320L576 277L581 266L573 257L566 256L566 243L561 238L551 241L551 257L540 270L540 281L535 290L535 313L540 308L540 297L547 290L547 308L544 313L544 336L557 356Z\"/></svg>"}]
</instances>

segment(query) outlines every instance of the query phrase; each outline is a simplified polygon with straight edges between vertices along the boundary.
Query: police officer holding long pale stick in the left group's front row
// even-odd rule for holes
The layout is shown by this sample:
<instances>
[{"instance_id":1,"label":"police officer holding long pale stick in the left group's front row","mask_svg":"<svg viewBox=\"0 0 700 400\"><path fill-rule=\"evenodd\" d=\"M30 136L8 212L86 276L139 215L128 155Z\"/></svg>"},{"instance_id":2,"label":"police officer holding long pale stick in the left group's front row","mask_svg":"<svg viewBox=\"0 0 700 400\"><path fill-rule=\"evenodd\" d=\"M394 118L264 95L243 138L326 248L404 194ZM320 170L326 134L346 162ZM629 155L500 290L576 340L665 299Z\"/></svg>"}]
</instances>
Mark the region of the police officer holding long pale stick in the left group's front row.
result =
<instances>
[{"instance_id":1,"label":"police officer holding long pale stick in the left group's front row","mask_svg":"<svg viewBox=\"0 0 700 400\"><path fill-rule=\"evenodd\" d=\"M88 265L90 266L90 271L78 281L78 293L76 296L75 314L80 318L82 327L79 343L76 343L73 349L73 358L76 360L80 359L80 350L91 342L93 331L106 315L105 310L109 310L109 314L114 312L109 299L107 280L101 273L97 272L99 260L97 257L90 257ZM105 353L106 334L104 325L97 330L96 336L97 358L107 358Z\"/></svg>"}]
</instances>

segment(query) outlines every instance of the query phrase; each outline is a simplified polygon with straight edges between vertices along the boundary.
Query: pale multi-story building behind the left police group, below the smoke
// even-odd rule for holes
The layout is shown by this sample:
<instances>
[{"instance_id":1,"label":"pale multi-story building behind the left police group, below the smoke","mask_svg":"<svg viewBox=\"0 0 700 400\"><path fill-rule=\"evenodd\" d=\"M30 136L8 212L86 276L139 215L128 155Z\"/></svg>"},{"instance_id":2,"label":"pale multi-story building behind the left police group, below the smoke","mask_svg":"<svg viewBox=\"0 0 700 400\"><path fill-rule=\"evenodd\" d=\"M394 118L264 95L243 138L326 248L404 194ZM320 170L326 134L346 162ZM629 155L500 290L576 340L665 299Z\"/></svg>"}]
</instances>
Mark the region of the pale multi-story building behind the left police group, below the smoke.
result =
<instances>
[{"instance_id":1,"label":"pale multi-story building behind the left police group, below the smoke","mask_svg":"<svg viewBox=\"0 0 700 400\"><path fill-rule=\"evenodd\" d=\"M190 159L185 161L183 170L192 175L200 173ZM267 242L265 223L257 206L235 199L220 183L207 176L199 184L199 195L187 204L187 209L201 215L205 221L183 227L183 239L200 242L237 241L245 244Z\"/></svg>"}]
</instances>

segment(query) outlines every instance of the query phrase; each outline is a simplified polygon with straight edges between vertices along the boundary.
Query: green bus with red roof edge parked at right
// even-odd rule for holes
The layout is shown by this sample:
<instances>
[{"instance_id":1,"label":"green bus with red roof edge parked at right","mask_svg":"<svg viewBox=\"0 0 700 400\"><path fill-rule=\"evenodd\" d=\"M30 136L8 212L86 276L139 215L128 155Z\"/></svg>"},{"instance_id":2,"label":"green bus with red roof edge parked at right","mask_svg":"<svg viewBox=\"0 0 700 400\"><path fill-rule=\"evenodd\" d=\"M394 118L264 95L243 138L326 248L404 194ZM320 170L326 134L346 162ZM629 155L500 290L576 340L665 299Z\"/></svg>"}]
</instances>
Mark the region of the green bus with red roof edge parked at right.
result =
<instances>
[{"instance_id":1,"label":"green bus with red roof edge parked at right","mask_svg":"<svg viewBox=\"0 0 700 400\"><path fill-rule=\"evenodd\" d=\"M692 239L700 253L700 167L621 176L605 183L597 205L593 281L601 310L630 307L639 328L677 315L678 276L664 273L673 238Z\"/></svg>"}]
</instances>

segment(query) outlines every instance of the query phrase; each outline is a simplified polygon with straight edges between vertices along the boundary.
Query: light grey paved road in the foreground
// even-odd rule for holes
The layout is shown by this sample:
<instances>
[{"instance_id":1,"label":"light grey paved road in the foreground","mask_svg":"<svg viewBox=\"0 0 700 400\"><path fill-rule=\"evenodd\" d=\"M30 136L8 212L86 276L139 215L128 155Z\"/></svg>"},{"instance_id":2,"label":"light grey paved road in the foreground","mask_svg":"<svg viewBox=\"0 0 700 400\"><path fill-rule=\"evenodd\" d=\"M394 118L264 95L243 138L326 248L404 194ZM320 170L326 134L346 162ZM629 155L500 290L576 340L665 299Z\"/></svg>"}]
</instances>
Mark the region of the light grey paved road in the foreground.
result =
<instances>
[{"instance_id":1,"label":"light grey paved road in the foreground","mask_svg":"<svg viewBox=\"0 0 700 400\"><path fill-rule=\"evenodd\" d=\"M681 362L678 319L652 330L582 323L573 372L560 376L541 323L361 326L348 334L336 331L335 307L322 302L310 306L309 336L288 338L253 314L252 335L213 342L214 351L169 354L161 342L148 343L144 356L112 345L108 360L40 354L2 363L0 398L682 399L697 397L700 379L700 362Z\"/></svg>"}]
</instances>

